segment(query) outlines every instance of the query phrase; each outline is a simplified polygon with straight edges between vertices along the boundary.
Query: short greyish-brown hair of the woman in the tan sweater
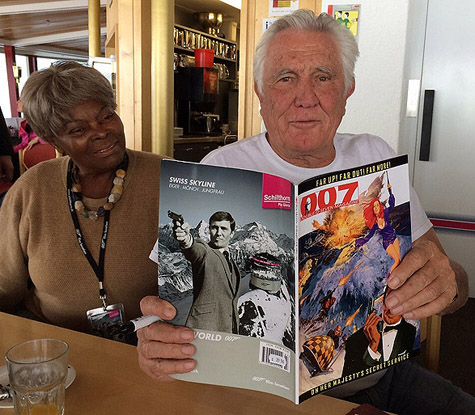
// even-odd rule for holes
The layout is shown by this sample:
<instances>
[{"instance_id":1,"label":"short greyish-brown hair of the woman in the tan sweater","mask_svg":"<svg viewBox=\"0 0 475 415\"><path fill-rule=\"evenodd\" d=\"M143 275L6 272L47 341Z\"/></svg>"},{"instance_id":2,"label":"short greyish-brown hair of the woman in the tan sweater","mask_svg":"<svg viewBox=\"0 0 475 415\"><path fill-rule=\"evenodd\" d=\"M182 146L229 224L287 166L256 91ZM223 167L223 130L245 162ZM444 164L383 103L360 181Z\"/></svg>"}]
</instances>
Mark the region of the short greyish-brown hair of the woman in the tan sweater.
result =
<instances>
[{"instance_id":1,"label":"short greyish-brown hair of the woman in the tan sweater","mask_svg":"<svg viewBox=\"0 0 475 415\"><path fill-rule=\"evenodd\" d=\"M71 121L70 112L85 101L117 107L109 81L98 70L77 62L56 62L32 73L21 93L28 123L46 141L61 134Z\"/></svg>"}]
</instances>

